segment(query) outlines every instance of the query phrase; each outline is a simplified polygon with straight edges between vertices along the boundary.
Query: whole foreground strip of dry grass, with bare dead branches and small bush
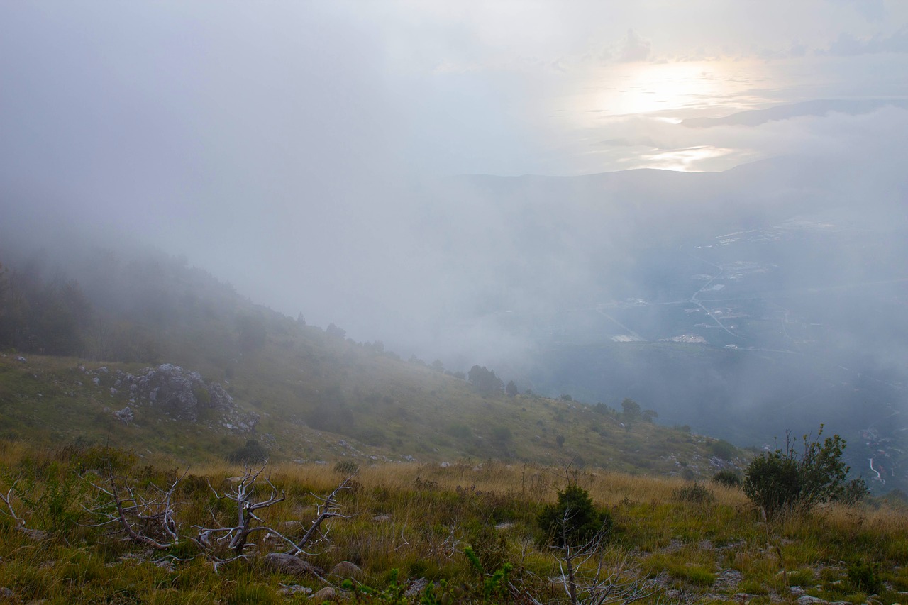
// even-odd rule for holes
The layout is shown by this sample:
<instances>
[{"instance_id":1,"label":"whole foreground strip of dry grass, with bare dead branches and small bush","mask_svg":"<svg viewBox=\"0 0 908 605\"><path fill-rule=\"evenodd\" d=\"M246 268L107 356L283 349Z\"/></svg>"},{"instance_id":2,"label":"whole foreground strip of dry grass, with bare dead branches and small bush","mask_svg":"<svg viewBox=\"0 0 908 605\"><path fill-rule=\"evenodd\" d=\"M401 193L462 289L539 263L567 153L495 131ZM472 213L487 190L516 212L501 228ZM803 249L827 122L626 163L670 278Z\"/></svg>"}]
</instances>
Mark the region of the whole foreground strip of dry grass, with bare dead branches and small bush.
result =
<instances>
[{"instance_id":1,"label":"whole foreground strip of dry grass, with bare dead branches and small bush","mask_svg":"<svg viewBox=\"0 0 908 605\"><path fill-rule=\"evenodd\" d=\"M0 467L0 588L13 600L278 602L330 587L351 602L593 602L612 586L644 603L742 592L775 603L802 591L863 603L908 589L908 513L882 501L764 523L722 485L687 498L705 488L495 461L186 471L110 448L0 441ZM356 471L346 485L343 471ZM268 505L254 509L237 550L240 494ZM311 533L325 511L338 516ZM574 580L567 542L550 540L557 518L576 520L577 543L591 545L571 555ZM269 556L287 552L301 564Z\"/></svg>"}]
</instances>

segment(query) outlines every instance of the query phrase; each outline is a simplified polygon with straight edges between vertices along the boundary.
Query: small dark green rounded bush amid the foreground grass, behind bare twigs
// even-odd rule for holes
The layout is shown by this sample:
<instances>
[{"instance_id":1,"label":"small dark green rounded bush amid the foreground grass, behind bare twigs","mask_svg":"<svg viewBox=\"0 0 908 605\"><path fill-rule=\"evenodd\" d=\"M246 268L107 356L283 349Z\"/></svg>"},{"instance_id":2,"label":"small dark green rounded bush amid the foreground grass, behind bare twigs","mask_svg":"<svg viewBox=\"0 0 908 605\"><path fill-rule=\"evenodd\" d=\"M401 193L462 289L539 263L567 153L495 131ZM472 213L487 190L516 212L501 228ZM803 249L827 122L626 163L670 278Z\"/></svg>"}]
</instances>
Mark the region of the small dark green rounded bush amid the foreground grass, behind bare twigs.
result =
<instances>
[{"instance_id":1,"label":"small dark green rounded bush amid the foreground grass, behind bare twigs","mask_svg":"<svg viewBox=\"0 0 908 605\"><path fill-rule=\"evenodd\" d=\"M614 521L608 511L597 509L589 493L576 483L558 492L558 502L547 504L537 522L549 543L577 546L606 536Z\"/></svg>"}]
</instances>

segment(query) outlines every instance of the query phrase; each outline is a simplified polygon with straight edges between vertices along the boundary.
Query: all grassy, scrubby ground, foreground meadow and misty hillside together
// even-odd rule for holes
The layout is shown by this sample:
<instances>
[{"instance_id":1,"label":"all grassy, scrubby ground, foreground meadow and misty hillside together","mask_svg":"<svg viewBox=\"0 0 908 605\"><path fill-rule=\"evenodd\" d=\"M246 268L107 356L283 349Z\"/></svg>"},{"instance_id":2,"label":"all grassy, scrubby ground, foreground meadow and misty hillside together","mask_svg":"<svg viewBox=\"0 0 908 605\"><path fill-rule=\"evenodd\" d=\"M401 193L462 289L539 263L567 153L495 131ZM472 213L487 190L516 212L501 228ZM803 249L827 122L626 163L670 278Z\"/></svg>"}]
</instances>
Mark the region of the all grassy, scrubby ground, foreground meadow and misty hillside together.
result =
<instances>
[{"instance_id":1,"label":"all grassy, scrubby ground, foreground meadow and misty hillside together","mask_svg":"<svg viewBox=\"0 0 908 605\"><path fill-rule=\"evenodd\" d=\"M0 273L0 345L16 347L0 352L0 599L908 590L904 503L861 503L838 436L751 462L629 398L520 394L483 366L403 362L293 321L181 263L101 260L87 275L108 281L84 308L78 283Z\"/></svg>"}]
</instances>

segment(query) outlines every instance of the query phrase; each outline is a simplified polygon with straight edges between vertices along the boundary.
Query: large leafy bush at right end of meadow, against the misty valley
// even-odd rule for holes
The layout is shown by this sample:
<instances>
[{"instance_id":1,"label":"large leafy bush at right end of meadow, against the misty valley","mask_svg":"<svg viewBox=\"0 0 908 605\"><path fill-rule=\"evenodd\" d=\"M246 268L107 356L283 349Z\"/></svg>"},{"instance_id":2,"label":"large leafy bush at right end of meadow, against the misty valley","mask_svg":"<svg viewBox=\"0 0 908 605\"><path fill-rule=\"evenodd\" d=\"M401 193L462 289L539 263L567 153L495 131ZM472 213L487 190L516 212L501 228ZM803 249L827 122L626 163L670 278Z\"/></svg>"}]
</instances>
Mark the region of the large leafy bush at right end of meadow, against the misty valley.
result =
<instances>
[{"instance_id":1,"label":"large leafy bush at right end of meadow, against the misty valley","mask_svg":"<svg viewBox=\"0 0 908 605\"><path fill-rule=\"evenodd\" d=\"M810 511L822 502L842 499L864 482L845 481L850 468L842 461L844 439L834 435L821 443L822 435L822 424L814 440L804 435L800 454L795 450L798 441L789 437L785 451L765 452L747 467L744 492L767 516Z\"/></svg>"}]
</instances>

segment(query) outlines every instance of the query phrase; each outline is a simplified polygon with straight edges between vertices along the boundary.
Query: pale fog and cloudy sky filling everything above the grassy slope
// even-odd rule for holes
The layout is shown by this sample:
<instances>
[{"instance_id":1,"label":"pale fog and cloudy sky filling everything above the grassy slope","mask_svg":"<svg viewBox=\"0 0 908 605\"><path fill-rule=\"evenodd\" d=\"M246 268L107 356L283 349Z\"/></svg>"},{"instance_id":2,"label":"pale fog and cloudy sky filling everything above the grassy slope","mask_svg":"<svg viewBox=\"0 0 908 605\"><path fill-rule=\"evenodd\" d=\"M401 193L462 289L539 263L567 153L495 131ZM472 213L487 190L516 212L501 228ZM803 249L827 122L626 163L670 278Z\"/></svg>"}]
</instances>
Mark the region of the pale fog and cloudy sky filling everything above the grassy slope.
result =
<instances>
[{"instance_id":1,"label":"pale fog and cloudy sky filling everything above the grassy slope","mask_svg":"<svg viewBox=\"0 0 908 605\"><path fill-rule=\"evenodd\" d=\"M717 431L859 376L902 406L906 31L882 1L5 2L0 253L152 246L405 357Z\"/></svg>"}]
</instances>

